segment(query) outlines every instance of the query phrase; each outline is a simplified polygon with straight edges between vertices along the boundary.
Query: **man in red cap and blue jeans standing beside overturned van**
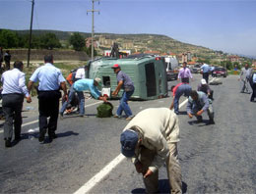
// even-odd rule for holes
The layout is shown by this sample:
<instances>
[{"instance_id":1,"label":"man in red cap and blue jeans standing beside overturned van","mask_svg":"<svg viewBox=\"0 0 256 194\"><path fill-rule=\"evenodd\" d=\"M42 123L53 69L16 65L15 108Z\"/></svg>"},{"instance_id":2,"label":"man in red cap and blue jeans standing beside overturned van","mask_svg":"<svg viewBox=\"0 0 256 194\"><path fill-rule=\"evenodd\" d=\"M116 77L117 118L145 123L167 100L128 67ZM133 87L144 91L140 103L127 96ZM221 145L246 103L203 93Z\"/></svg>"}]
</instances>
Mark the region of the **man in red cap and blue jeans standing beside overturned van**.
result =
<instances>
[{"instance_id":1,"label":"man in red cap and blue jeans standing beside overturned van","mask_svg":"<svg viewBox=\"0 0 256 194\"><path fill-rule=\"evenodd\" d=\"M134 84L131 80L131 78L121 71L121 68L118 64L113 65L112 69L114 70L114 73L116 73L116 79L117 79L117 87L112 92L113 96L117 96L120 89L123 89L122 98L120 100L120 105L116 111L116 115L114 118L120 118L122 115L122 112L124 111L126 115L126 120L130 121L133 118L132 111L128 105L128 100L133 95L134 92Z\"/></svg>"}]
</instances>

